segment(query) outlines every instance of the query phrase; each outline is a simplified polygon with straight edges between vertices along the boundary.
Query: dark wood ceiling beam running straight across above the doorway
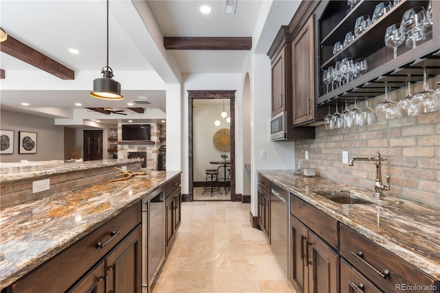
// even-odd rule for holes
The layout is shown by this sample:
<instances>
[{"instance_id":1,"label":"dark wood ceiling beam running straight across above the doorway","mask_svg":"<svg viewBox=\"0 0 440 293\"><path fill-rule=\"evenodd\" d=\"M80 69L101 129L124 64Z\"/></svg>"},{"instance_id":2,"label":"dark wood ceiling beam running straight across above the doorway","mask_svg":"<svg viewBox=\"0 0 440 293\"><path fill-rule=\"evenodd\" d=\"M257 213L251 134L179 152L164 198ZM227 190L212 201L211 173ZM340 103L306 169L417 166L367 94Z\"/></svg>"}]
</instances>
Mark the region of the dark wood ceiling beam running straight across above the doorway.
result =
<instances>
[{"instance_id":1,"label":"dark wood ceiling beam running straight across above the doorway","mask_svg":"<svg viewBox=\"0 0 440 293\"><path fill-rule=\"evenodd\" d=\"M250 50L251 36L164 36L166 50Z\"/></svg>"}]
</instances>

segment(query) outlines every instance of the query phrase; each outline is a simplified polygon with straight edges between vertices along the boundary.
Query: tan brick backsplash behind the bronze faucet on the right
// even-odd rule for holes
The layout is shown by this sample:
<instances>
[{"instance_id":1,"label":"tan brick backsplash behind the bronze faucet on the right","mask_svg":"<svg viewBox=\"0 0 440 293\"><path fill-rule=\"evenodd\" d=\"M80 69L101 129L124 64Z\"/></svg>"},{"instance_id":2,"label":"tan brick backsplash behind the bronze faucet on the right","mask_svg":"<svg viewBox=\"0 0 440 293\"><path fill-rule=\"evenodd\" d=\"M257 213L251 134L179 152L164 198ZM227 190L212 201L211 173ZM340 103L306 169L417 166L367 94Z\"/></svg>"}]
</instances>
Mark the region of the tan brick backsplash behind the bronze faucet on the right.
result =
<instances>
[{"instance_id":1,"label":"tan brick backsplash behind the bronze faucet on the right","mask_svg":"<svg viewBox=\"0 0 440 293\"><path fill-rule=\"evenodd\" d=\"M430 89L437 87L440 77L429 80ZM412 93L421 91L421 83L412 85ZM399 100L405 89L391 93ZM378 96L369 100L373 108L384 100ZM360 109L364 109L364 102ZM334 107L333 107L334 109ZM333 110L334 111L334 110ZM341 111L341 110L340 110ZM373 195L376 177L373 162L355 162L354 166L342 164L342 151L353 157L373 157L376 150L387 160L382 164L382 177L390 176L391 191L399 197L440 207L440 111L374 122L369 126L351 129L325 129L316 127L315 140L298 140L296 159L303 168L316 169L317 175L371 188ZM305 160L305 151L309 160Z\"/></svg>"}]
</instances>

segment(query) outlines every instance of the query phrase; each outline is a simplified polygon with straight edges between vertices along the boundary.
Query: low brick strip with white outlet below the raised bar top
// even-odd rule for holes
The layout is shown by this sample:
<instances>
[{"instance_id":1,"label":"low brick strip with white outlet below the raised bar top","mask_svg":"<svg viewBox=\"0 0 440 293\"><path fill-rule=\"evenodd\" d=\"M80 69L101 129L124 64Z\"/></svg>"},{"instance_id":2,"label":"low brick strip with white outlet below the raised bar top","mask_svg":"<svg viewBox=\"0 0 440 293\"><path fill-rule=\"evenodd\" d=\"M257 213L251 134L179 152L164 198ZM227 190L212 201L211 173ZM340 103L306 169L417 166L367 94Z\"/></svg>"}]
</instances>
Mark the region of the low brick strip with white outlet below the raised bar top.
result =
<instances>
[{"instance_id":1,"label":"low brick strip with white outlet below the raised bar top","mask_svg":"<svg viewBox=\"0 0 440 293\"><path fill-rule=\"evenodd\" d=\"M124 164L127 170L139 171L140 162ZM69 191L90 184L104 182L116 178L120 174L113 166L87 171L42 176L32 180L17 180L0 183L0 207L15 206L32 200L48 197L63 191ZM32 193L32 182L35 180L50 179L50 189L41 193Z\"/></svg>"}]
</instances>

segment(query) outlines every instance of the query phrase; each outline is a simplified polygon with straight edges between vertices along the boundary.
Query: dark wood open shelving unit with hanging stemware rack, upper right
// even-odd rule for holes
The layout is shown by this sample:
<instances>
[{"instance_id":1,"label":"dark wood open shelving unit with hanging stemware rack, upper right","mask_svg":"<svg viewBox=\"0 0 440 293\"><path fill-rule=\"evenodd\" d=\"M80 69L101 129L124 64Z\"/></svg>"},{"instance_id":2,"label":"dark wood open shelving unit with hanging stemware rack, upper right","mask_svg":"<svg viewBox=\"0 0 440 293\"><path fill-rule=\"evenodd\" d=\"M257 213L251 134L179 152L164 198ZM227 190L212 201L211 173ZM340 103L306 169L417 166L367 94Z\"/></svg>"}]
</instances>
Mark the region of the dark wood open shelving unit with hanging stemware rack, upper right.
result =
<instances>
[{"instance_id":1,"label":"dark wood open shelving unit with hanging stemware rack, upper right","mask_svg":"<svg viewBox=\"0 0 440 293\"><path fill-rule=\"evenodd\" d=\"M389 25L400 23L406 10L415 6L426 7L429 1L399 1L349 45L333 55L333 45L337 41L343 41L343 36L354 30L355 20L365 14L371 17L375 6L380 2L382 1L361 0L348 13L347 1L322 1L318 6L318 107L346 100L353 103L355 97L363 100L380 96L384 94L385 81L391 91L405 87L408 74L412 83L419 82L423 80L423 66L426 67L429 77L440 75L440 1L432 1L432 34L415 49L410 50L403 44L398 49L397 58L393 58L393 50L384 43L384 34ZM366 58L368 71L327 93L327 87L322 83L322 73L329 66L334 66L336 61L346 57L352 57L353 60Z\"/></svg>"}]
</instances>

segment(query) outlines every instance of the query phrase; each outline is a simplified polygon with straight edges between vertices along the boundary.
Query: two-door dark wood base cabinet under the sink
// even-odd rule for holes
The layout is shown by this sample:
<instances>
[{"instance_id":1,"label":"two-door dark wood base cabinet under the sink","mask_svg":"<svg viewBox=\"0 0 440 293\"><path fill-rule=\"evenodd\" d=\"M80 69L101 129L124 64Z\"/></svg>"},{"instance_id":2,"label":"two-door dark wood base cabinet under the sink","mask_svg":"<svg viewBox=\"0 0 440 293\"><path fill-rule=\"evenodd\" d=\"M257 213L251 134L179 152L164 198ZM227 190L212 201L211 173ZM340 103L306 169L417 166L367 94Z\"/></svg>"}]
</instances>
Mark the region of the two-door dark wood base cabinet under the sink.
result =
<instances>
[{"instance_id":1,"label":"two-door dark wood base cabinet under the sink","mask_svg":"<svg viewBox=\"0 0 440 293\"><path fill-rule=\"evenodd\" d=\"M290 216L291 282L299 292L339 292L339 255Z\"/></svg>"}]
</instances>

